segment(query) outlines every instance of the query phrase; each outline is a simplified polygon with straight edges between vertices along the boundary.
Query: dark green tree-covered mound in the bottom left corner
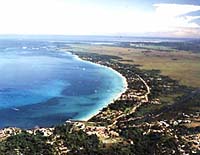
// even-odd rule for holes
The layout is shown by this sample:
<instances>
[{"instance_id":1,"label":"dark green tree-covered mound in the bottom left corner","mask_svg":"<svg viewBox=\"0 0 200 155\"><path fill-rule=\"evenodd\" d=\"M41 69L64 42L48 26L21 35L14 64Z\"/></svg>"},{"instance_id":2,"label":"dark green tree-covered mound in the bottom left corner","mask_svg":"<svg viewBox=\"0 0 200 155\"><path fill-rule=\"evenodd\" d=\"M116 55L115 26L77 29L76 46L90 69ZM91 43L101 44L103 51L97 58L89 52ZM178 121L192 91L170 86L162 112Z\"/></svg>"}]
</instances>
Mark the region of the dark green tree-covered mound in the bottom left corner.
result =
<instances>
[{"instance_id":1,"label":"dark green tree-covered mound in the bottom left corner","mask_svg":"<svg viewBox=\"0 0 200 155\"><path fill-rule=\"evenodd\" d=\"M1 155L53 155L54 150L41 134L22 132L0 143Z\"/></svg>"}]
</instances>

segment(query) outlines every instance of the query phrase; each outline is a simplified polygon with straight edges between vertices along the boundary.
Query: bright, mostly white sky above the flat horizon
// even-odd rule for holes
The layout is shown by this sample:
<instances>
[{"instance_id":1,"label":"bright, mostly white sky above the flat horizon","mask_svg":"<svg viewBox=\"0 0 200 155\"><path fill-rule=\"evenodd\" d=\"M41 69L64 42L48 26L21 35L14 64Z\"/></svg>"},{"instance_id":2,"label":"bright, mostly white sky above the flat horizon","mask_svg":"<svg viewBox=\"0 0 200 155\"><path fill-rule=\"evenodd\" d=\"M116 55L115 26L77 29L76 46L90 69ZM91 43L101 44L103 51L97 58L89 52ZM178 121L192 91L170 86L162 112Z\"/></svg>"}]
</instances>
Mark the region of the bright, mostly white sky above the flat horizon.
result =
<instances>
[{"instance_id":1,"label":"bright, mostly white sky above the flat horizon","mask_svg":"<svg viewBox=\"0 0 200 155\"><path fill-rule=\"evenodd\" d=\"M200 0L0 0L0 34L200 37Z\"/></svg>"}]
</instances>

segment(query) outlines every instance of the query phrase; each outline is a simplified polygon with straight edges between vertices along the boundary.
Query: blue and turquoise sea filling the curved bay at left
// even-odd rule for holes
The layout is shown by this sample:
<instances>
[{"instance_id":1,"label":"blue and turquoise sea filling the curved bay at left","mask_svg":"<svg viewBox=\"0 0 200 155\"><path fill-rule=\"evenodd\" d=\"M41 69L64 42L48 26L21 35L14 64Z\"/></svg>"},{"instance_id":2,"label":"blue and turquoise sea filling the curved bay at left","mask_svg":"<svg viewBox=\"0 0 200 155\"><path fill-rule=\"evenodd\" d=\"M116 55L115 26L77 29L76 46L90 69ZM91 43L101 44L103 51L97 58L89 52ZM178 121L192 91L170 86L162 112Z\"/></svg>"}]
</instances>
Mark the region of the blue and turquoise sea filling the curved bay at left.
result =
<instances>
[{"instance_id":1,"label":"blue and turquoise sea filling the curved bay at left","mask_svg":"<svg viewBox=\"0 0 200 155\"><path fill-rule=\"evenodd\" d=\"M0 40L0 128L88 119L125 90L116 71L82 61L67 47L36 39Z\"/></svg>"}]
</instances>

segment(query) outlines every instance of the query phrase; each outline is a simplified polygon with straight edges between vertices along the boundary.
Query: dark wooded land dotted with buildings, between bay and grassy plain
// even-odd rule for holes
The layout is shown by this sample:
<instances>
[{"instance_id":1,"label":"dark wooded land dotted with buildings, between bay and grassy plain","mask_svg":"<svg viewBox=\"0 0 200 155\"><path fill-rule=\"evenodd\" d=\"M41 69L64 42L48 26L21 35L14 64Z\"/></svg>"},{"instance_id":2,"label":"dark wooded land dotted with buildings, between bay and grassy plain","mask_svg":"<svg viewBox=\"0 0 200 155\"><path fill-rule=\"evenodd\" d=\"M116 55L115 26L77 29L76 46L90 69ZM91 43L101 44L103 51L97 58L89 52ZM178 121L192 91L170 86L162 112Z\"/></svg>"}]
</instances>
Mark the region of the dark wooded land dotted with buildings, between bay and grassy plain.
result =
<instances>
[{"instance_id":1,"label":"dark wooded land dotted with buildings, between bay and grassy plain","mask_svg":"<svg viewBox=\"0 0 200 155\"><path fill-rule=\"evenodd\" d=\"M179 84L157 69L141 70L132 62L121 62L117 56L75 54L123 74L128 90L87 122L56 126L49 136L23 131L8 137L0 142L0 155L199 153L198 141L194 142L200 133L199 89ZM150 94L139 77L150 87ZM144 99L146 94L148 99Z\"/></svg>"}]
</instances>

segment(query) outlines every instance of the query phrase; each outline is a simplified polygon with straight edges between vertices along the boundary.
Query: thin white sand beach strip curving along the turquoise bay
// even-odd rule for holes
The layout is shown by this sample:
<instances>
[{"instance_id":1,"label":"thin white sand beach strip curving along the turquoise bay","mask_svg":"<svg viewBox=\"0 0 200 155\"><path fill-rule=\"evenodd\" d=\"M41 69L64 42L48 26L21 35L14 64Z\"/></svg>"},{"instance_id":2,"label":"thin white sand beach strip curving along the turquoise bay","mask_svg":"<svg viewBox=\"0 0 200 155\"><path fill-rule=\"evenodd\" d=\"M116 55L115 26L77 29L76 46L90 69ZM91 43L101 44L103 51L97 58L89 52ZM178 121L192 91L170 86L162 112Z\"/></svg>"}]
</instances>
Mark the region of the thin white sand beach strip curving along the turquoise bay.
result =
<instances>
[{"instance_id":1,"label":"thin white sand beach strip curving along the turquoise bay","mask_svg":"<svg viewBox=\"0 0 200 155\"><path fill-rule=\"evenodd\" d=\"M125 76L123 76L120 72L118 72L117 70L113 69L112 67L109 67L109 66L106 66L106 65L102 65L100 63L97 63L97 62L92 62L90 60L84 60L82 58L80 58L77 54L73 53L73 52L69 52L69 51L64 51L64 52L67 52L69 54L71 54L72 56L74 56L75 59L79 60L79 61L84 61L84 62L87 62L87 63L91 63L93 65L97 65L97 66L100 66L100 67L103 67L103 68L107 68L109 70L111 70L112 72L114 72L115 74L117 74L121 79L122 79L122 83L123 83L123 91L115 94L115 97L114 98L111 98L109 101L106 101L107 103L105 103L101 109L99 110L94 110L92 111L90 114L88 114L87 116L85 117L81 117L81 118L77 118L77 119L70 119L70 120L76 120L76 121L89 121L91 118L93 118L94 116L98 115L101 110L103 108L106 108L108 107L110 104L114 103L115 101L119 100L120 97L128 90L128 82L127 82L127 79ZM114 96L114 95L113 95ZM68 121L68 120L66 120Z\"/></svg>"}]
</instances>

